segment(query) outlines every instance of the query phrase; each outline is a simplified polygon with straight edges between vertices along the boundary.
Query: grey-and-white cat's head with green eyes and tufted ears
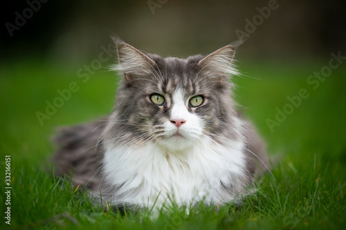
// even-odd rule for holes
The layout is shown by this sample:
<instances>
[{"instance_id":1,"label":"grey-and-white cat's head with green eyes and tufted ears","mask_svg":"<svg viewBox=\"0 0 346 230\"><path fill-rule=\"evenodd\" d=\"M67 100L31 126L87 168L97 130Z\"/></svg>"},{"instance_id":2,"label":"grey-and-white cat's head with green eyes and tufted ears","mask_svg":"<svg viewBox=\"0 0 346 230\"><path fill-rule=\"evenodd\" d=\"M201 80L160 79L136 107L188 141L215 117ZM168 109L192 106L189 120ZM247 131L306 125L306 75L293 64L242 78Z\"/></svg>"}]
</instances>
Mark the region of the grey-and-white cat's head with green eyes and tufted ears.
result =
<instances>
[{"instance_id":1,"label":"grey-and-white cat's head with green eyes and tufted ears","mask_svg":"<svg viewBox=\"0 0 346 230\"><path fill-rule=\"evenodd\" d=\"M169 151L232 133L234 46L179 59L145 54L120 40L116 45L119 63L114 69L121 71L122 80L109 131Z\"/></svg>"}]
</instances>

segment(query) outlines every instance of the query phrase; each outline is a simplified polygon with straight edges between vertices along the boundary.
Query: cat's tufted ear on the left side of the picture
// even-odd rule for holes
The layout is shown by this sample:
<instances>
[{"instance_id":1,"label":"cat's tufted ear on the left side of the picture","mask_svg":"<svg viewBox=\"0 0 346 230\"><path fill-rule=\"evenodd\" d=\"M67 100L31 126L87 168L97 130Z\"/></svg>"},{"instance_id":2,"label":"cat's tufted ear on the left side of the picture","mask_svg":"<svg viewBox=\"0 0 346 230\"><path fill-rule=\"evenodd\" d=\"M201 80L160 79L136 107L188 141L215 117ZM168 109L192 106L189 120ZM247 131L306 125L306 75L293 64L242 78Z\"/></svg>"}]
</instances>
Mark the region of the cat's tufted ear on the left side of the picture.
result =
<instances>
[{"instance_id":1,"label":"cat's tufted ear on the left side of the picture","mask_svg":"<svg viewBox=\"0 0 346 230\"><path fill-rule=\"evenodd\" d=\"M119 64L113 69L122 71L125 81L152 74L155 62L151 58L123 41L115 42Z\"/></svg>"}]
</instances>

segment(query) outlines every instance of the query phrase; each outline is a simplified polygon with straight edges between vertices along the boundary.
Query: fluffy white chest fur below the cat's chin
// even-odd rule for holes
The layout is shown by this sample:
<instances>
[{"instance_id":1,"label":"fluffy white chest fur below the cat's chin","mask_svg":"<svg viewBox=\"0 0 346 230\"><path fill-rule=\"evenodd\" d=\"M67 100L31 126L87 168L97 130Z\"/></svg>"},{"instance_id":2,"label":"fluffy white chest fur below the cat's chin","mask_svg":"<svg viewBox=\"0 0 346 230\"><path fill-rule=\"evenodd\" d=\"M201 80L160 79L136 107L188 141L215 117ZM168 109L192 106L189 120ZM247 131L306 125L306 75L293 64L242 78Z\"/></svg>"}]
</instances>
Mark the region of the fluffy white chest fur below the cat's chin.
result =
<instances>
[{"instance_id":1,"label":"fluffy white chest fur below the cat's chin","mask_svg":"<svg viewBox=\"0 0 346 230\"><path fill-rule=\"evenodd\" d=\"M244 144L223 145L202 138L183 152L168 153L151 142L142 146L107 146L104 176L116 186L111 199L116 203L152 207L170 200L190 204L229 202L242 187L245 159Z\"/></svg>"}]
</instances>

